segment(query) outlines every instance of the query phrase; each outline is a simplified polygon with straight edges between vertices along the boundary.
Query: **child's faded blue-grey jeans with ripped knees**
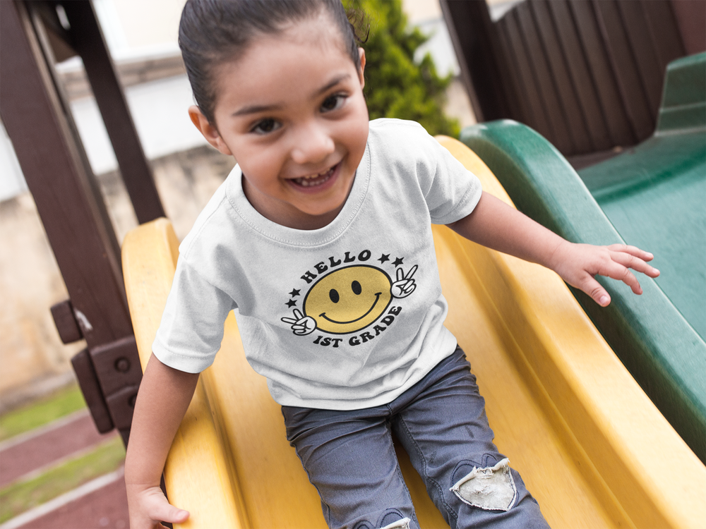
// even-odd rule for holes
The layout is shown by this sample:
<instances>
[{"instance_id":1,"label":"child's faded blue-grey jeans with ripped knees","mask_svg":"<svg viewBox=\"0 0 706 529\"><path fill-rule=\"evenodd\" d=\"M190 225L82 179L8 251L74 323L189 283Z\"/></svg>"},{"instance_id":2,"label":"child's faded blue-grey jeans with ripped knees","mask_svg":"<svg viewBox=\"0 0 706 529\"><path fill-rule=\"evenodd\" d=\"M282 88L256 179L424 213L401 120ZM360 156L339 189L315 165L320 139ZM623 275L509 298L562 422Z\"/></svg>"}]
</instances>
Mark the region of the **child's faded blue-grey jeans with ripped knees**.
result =
<instances>
[{"instance_id":1,"label":"child's faded blue-grey jeans with ripped knees","mask_svg":"<svg viewBox=\"0 0 706 529\"><path fill-rule=\"evenodd\" d=\"M393 433L452 529L549 527L493 444L485 401L460 348L389 404L283 406L282 414L330 528L419 528Z\"/></svg>"}]
</instances>

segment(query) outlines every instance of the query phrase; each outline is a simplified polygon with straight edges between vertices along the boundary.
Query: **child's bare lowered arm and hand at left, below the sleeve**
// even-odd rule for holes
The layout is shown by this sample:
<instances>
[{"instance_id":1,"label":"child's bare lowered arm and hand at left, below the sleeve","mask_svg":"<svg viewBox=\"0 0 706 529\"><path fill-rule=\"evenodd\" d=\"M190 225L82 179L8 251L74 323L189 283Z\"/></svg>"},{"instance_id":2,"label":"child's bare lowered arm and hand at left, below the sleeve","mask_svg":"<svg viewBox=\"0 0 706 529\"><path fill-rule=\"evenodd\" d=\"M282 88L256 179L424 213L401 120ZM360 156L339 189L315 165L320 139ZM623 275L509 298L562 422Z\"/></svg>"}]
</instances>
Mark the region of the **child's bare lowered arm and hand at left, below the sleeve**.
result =
<instances>
[{"instance_id":1,"label":"child's bare lowered arm and hand at left, below the sleeve","mask_svg":"<svg viewBox=\"0 0 706 529\"><path fill-rule=\"evenodd\" d=\"M140 382L125 458L132 529L163 528L160 521L182 523L189 518L188 511L169 505L160 479L196 382L198 373L175 370L152 353Z\"/></svg>"}]
</instances>

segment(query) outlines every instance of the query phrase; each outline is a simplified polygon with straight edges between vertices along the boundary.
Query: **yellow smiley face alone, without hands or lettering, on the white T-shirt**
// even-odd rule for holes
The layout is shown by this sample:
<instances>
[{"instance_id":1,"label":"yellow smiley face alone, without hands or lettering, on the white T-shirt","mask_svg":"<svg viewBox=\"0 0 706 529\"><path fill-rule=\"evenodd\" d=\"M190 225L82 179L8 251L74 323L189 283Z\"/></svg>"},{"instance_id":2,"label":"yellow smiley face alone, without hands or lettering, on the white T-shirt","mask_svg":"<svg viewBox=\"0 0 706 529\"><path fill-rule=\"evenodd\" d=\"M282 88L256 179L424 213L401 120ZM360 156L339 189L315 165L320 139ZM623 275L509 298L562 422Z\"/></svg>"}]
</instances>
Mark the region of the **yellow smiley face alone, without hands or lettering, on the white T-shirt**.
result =
<instances>
[{"instance_id":1,"label":"yellow smiley face alone, without hands or lettering, on the white T-shirt","mask_svg":"<svg viewBox=\"0 0 706 529\"><path fill-rule=\"evenodd\" d=\"M340 268L311 287L304 298L304 312L324 332L356 332L388 308L391 285L390 276L381 269L367 265Z\"/></svg>"}]
</instances>

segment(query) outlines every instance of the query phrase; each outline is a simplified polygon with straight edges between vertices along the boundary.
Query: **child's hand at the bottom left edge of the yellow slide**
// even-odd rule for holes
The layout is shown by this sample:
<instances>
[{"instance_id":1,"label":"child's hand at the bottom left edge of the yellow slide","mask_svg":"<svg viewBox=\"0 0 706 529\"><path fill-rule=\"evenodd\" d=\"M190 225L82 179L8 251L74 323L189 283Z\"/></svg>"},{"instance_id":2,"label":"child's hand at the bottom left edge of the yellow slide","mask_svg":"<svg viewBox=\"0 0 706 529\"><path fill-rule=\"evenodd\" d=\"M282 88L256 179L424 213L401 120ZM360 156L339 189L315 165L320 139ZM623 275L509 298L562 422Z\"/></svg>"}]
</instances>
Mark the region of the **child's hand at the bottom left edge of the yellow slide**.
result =
<instances>
[{"instance_id":1,"label":"child's hand at the bottom left edge of the yellow slide","mask_svg":"<svg viewBox=\"0 0 706 529\"><path fill-rule=\"evenodd\" d=\"M166 529L160 521L184 523L189 511L170 505L160 487L126 485L131 529Z\"/></svg>"}]
</instances>

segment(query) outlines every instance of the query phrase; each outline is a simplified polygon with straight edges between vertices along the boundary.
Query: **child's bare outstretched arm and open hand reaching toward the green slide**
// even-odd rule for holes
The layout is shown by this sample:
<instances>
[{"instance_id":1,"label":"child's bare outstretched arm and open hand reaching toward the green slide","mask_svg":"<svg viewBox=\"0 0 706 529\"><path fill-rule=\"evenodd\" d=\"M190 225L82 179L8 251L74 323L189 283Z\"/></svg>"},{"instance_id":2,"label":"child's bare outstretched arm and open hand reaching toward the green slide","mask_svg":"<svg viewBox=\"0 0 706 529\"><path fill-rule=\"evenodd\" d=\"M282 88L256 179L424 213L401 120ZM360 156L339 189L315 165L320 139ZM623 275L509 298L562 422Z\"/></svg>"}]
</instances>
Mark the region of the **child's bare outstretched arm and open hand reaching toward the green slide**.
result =
<instances>
[{"instance_id":1,"label":"child's bare outstretched arm and open hand reaching toward the green slide","mask_svg":"<svg viewBox=\"0 0 706 529\"><path fill-rule=\"evenodd\" d=\"M470 241L554 270L602 307L611 298L594 278L596 274L623 281L636 294L642 288L630 268L650 277L659 275L659 270L645 262L652 260L651 253L620 244L570 243L488 193L481 195L471 214L448 226Z\"/></svg>"}]
</instances>

